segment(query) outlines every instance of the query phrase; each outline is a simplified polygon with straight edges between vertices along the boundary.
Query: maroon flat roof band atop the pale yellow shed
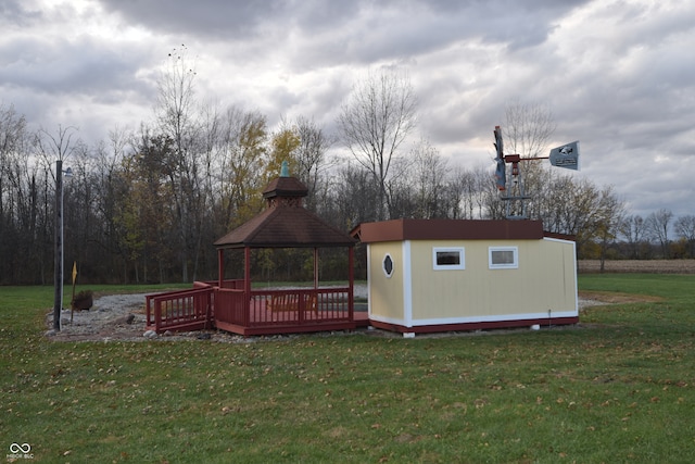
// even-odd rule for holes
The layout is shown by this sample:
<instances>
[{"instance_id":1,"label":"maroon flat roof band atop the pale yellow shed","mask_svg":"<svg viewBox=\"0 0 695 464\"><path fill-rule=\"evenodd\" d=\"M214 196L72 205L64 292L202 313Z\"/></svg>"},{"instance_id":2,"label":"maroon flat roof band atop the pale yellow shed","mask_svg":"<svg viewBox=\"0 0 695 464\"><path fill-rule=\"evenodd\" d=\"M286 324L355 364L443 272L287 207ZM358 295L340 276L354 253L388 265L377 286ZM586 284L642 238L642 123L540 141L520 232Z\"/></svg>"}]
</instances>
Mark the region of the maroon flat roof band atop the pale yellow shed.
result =
<instances>
[{"instance_id":1,"label":"maroon flat roof band atop the pale yellow shed","mask_svg":"<svg viewBox=\"0 0 695 464\"><path fill-rule=\"evenodd\" d=\"M364 223L352 236L364 243L401 240L540 240L541 221L393 220Z\"/></svg>"}]
</instances>

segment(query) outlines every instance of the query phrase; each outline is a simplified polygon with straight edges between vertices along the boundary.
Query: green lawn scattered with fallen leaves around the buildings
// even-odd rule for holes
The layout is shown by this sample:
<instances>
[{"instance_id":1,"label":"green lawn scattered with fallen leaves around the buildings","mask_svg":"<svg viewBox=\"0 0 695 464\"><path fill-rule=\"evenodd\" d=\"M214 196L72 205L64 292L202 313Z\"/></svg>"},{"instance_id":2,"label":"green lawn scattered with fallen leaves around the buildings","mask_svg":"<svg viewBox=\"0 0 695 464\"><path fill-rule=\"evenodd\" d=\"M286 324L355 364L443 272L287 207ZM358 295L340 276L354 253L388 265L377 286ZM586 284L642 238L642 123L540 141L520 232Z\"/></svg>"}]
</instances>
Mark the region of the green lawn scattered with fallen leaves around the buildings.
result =
<instances>
[{"instance_id":1,"label":"green lawn scattered with fallen leaves around the buildings","mask_svg":"<svg viewBox=\"0 0 695 464\"><path fill-rule=\"evenodd\" d=\"M52 288L0 288L0 446L41 463L692 462L695 275L580 290L630 302L540 331L104 343L43 336Z\"/></svg>"}]
</instances>

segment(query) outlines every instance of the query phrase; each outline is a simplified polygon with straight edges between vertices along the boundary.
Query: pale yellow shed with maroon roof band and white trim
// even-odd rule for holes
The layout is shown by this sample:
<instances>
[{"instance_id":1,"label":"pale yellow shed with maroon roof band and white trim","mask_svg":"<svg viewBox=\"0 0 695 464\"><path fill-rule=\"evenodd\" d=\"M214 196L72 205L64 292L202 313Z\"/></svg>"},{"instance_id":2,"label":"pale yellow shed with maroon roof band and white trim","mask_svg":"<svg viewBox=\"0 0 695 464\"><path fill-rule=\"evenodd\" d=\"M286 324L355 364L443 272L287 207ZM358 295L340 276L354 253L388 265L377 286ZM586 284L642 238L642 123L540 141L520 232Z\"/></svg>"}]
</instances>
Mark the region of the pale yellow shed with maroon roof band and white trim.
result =
<instances>
[{"instance_id":1,"label":"pale yellow shed with maroon roof band and white trim","mask_svg":"<svg viewBox=\"0 0 695 464\"><path fill-rule=\"evenodd\" d=\"M403 334L579 322L570 237L539 221L361 224L369 322Z\"/></svg>"}]
</instances>

